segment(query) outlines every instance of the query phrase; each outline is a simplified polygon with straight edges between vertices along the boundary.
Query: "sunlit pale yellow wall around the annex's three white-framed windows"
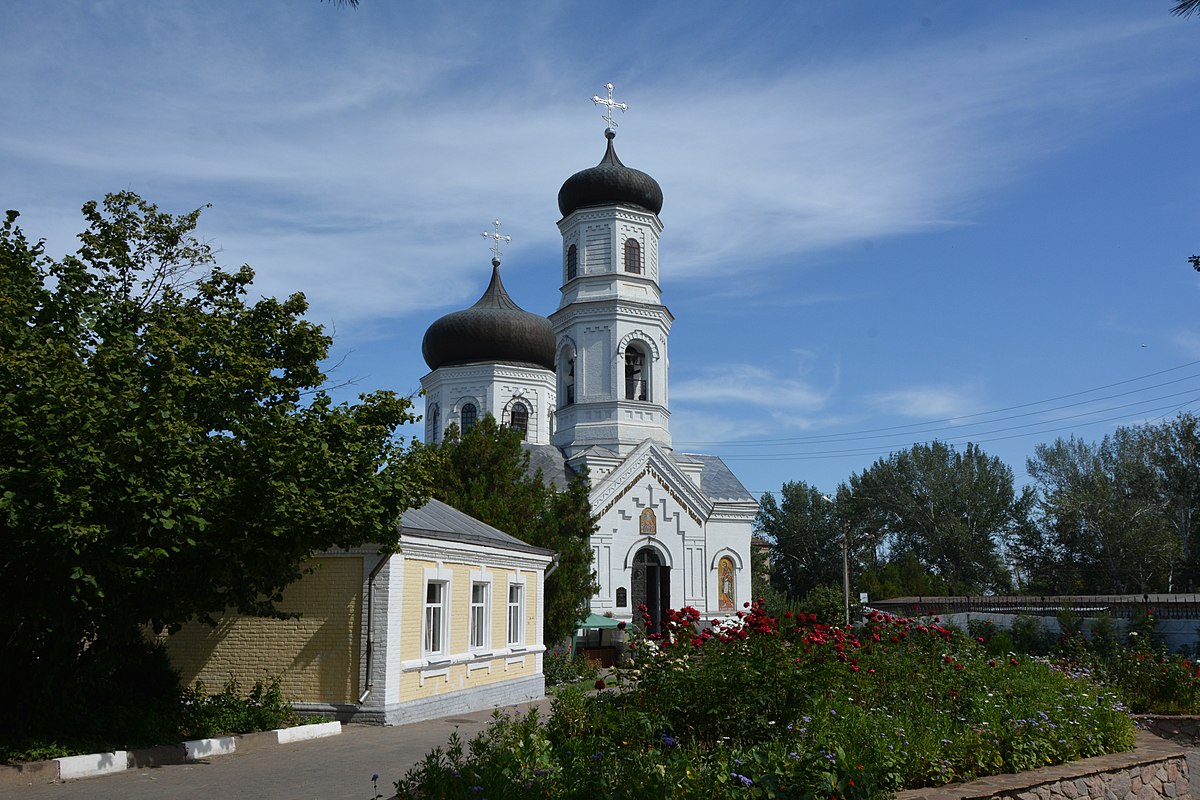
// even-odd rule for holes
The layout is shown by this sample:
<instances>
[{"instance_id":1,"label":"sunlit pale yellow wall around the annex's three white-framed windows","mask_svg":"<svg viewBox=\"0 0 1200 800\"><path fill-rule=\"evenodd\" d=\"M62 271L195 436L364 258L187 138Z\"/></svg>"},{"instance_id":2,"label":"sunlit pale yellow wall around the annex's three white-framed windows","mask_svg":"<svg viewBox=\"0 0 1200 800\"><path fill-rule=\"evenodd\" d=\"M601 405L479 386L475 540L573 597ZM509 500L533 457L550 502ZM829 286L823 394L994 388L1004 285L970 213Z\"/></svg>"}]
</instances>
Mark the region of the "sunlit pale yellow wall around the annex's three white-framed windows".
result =
<instances>
[{"instance_id":1,"label":"sunlit pale yellow wall around the annex's three white-framed windows","mask_svg":"<svg viewBox=\"0 0 1200 800\"><path fill-rule=\"evenodd\" d=\"M407 559L404 561L404 631L401 642L401 658L418 661L422 657L422 624L425 620L425 570L437 567L433 561ZM443 572L450 572L450 625L448 656L466 654L470 650L470 573L479 571L479 564L443 563ZM490 567L485 570L492 576L492 640L491 650L499 654L508 648L508 588L509 581L517 576L517 570ZM524 644L538 642L538 585L536 572L522 571L526 579ZM401 675L400 696L402 699L431 697L444 692L475 688L534 674L535 655L504 656L494 658L476 658L472 663L454 663L444 667L445 675L432 675L422 679L421 670L409 670Z\"/></svg>"}]
</instances>

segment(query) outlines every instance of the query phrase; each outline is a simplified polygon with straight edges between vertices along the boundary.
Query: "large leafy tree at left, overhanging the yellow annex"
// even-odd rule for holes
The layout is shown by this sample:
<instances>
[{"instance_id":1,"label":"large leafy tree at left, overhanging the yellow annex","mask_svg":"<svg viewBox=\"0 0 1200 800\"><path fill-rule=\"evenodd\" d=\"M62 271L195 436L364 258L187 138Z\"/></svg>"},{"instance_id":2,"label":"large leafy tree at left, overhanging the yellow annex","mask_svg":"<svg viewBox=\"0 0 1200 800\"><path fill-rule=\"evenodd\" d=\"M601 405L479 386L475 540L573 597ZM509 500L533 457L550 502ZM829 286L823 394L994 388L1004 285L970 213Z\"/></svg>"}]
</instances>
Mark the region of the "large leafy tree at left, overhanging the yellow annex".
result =
<instances>
[{"instance_id":1,"label":"large leafy tree at left, overhanging the yellow annex","mask_svg":"<svg viewBox=\"0 0 1200 800\"><path fill-rule=\"evenodd\" d=\"M250 301L199 211L83 213L61 259L0 229L0 663L35 708L145 626L276 613L306 559L394 545L427 492L409 402L319 391L304 296Z\"/></svg>"}]
</instances>

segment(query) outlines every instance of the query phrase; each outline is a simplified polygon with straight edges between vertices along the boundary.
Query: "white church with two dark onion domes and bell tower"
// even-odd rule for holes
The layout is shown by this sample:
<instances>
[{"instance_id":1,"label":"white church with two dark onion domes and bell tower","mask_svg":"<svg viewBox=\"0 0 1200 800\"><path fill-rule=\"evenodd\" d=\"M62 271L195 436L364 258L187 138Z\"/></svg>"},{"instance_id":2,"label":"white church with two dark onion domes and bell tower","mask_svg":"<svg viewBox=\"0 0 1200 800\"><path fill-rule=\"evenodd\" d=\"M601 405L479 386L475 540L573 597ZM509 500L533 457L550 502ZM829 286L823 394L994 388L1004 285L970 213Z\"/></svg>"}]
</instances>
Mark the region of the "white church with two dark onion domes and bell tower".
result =
<instances>
[{"instance_id":1,"label":"white church with two dark onion domes and bell tower","mask_svg":"<svg viewBox=\"0 0 1200 800\"><path fill-rule=\"evenodd\" d=\"M524 432L550 479L587 470L598 518L594 613L656 628L667 608L706 616L750 597L754 497L716 456L671 439L668 339L659 237L662 190L617 157L610 86L606 150L558 193L562 299L547 317L522 311L492 278L480 300L430 326L425 438L485 414ZM520 531L512 531L520 536Z\"/></svg>"}]
</instances>

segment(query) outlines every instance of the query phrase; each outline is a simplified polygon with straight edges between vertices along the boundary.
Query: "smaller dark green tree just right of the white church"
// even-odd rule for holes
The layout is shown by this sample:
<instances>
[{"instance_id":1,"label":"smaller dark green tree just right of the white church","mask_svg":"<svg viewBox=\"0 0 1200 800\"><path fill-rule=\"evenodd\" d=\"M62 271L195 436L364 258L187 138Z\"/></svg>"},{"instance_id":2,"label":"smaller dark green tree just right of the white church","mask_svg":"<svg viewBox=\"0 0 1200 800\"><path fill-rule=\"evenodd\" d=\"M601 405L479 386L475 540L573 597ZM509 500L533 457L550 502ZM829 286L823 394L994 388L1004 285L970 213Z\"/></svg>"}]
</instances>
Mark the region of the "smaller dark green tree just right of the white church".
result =
<instances>
[{"instance_id":1,"label":"smaller dark green tree just right of the white church","mask_svg":"<svg viewBox=\"0 0 1200 800\"><path fill-rule=\"evenodd\" d=\"M790 597L803 597L823 584L841 587L835 504L804 481L784 483L779 498L763 494L754 523L755 533L772 543L772 584Z\"/></svg>"}]
</instances>

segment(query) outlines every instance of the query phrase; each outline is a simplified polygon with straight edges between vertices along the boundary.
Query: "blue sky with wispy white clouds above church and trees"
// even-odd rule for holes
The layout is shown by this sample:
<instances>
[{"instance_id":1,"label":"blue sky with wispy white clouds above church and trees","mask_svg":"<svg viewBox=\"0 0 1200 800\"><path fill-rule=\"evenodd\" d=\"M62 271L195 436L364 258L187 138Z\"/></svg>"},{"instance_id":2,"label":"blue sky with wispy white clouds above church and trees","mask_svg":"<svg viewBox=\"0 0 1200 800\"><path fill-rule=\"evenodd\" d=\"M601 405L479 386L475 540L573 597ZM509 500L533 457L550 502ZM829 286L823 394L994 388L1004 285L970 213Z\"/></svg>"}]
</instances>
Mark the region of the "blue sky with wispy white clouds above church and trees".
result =
<instances>
[{"instance_id":1,"label":"blue sky with wispy white clouds above church and trees","mask_svg":"<svg viewBox=\"0 0 1200 800\"><path fill-rule=\"evenodd\" d=\"M558 303L557 193L604 152L661 184L678 449L755 493L973 440L1200 405L1200 19L1148 2L106 0L10 4L0 204L53 252L133 190L212 204L332 381L419 389L493 218Z\"/></svg>"}]
</instances>

